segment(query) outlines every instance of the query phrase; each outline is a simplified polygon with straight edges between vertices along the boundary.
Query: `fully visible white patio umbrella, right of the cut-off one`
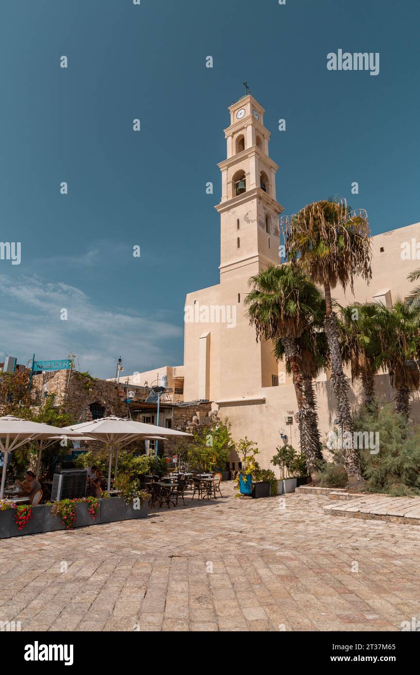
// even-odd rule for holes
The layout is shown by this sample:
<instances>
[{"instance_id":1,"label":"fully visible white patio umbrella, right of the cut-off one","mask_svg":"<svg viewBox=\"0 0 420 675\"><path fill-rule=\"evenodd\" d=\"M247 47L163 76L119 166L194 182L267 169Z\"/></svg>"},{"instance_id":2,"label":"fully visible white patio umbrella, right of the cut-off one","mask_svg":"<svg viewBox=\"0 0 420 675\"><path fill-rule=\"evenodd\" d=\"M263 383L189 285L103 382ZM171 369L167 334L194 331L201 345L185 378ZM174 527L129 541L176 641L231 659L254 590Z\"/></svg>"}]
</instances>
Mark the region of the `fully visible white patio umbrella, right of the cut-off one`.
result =
<instances>
[{"instance_id":1,"label":"fully visible white patio umbrella, right of the cut-off one","mask_svg":"<svg viewBox=\"0 0 420 675\"><path fill-rule=\"evenodd\" d=\"M111 485L111 464L113 459L113 450L116 448L115 473L117 472L117 462L119 450L134 440L141 440L150 436L161 437L168 436L191 436L191 433L185 431L176 431L175 429L166 429L156 425L146 424L144 422L135 422L131 419L125 419L111 415L102 417L91 422L82 422L81 424L69 425L63 427L61 431L72 433L73 431L82 431L86 435L93 437L96 441L109 444L109 465L108 465L108 489Z\"/></svg>"}]
</instances>

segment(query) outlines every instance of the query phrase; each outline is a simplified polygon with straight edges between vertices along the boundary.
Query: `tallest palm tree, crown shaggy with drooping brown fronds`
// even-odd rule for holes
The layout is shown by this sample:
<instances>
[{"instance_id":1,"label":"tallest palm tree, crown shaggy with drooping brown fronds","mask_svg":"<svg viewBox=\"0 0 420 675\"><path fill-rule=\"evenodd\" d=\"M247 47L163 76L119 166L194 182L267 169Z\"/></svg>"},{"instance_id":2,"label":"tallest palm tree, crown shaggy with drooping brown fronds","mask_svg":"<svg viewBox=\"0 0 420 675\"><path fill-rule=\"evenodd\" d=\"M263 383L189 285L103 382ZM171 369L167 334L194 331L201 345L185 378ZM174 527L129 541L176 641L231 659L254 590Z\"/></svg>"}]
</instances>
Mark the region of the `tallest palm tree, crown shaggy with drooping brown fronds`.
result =
<instances>
[{"instance_id":1,"label":"tallest palm tree, crown shaggy with drooping brown fronds","mask_svg":"<svg viewBox=\"0 0 420 675\"><path fill-rule=\"evenodd\" d=\"M364 211L351 211L347 202L332 198L313 202L284 223L284 244L293 264L299 264L315 284L324 288L324 329L330 350L332 389L336 398L338 426L353 431L349 383L342 367L340 329L333 310L331 290L340 284L353 291L354 277L371 279L369 224ZM343 452L351 487L363 485L360 459L352 444Z\"/></svg>"}]
</instances>

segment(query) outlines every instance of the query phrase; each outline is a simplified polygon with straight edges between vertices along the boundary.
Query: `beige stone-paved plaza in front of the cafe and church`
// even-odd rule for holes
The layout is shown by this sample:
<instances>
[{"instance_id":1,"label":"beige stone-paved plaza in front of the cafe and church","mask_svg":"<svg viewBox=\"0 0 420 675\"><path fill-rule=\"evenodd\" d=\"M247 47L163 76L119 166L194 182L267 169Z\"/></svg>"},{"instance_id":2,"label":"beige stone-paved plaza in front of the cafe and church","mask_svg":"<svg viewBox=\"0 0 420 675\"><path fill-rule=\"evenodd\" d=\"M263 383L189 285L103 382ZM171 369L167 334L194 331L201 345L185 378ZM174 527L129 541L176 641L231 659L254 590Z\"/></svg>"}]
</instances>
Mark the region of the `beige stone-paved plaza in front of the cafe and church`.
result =
<instances>
[{"instance_id":1,"label":"beige stone-paved plaza in front of the cafe and church","mask_svg":"<svg viewBox=\"0 0 420 675\"><path fill-rule=\"evenodd\" d=\"M232 483L222 493L144 520L0 541L0 620L22 630L375 631L419 618L419 526L328 516L325 496L242 501Z\"/></svg>"}]
</instances>

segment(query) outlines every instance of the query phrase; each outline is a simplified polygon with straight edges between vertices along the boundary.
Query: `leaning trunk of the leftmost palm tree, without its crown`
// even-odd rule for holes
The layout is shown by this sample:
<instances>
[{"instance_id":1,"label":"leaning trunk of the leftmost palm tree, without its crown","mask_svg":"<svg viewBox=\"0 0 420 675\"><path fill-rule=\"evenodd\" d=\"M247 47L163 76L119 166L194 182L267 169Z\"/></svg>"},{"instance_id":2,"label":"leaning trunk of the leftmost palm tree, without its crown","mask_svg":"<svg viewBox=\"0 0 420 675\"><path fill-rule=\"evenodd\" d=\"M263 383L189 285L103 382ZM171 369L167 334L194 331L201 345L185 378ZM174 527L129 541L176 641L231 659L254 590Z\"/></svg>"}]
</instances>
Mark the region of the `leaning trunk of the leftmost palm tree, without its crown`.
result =
<instances>
[{"instance_id":1,"label":"leaning trunk of the leftmost palm tree, without its crown","mask_svg":"<svg viewBox=\"0 0 420 675\"><path fill-rule=\"evenodd\" d=\"M295 386L301 452L305 455L307 470L312 481L316 481L319 473L318 453L320 449L313 439L313 421L311 420L311 415L313 415L314 411L309 406L305 396L303 375L297 356L298 350L296 340L293 338L282 338L282 344L284 347L284 354L286 354L286 358L290 363L293 375L293 385Z\"/></svg>"}]
</instances>

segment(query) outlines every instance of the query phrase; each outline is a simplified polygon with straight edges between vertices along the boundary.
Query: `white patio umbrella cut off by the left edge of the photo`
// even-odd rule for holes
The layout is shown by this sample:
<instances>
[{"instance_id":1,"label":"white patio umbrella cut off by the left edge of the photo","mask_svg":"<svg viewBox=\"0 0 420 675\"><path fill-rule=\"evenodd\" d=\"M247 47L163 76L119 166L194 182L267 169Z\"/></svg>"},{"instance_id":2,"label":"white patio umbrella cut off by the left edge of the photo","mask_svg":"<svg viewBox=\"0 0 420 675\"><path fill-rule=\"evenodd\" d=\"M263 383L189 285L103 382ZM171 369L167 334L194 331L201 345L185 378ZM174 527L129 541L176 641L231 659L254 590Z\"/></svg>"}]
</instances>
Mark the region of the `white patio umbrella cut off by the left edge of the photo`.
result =
<instances>
[{"instance_id":1,"label":"white patio umbrella cut off by the left edge of the photo","mask_svg":"<svg viewBox=\"0 0 420 675\"><path fill-rule=\"evenodd\" d=\"M63 433L65 432L60 427L52 427L40 422L31 422L20 417L14 417L13 415L0 417L0 450L4 453L0 499L3 499L9 453L17 450L30 440L50 439L58 435L62 437Z\"/></svg>"}]
</instances>

